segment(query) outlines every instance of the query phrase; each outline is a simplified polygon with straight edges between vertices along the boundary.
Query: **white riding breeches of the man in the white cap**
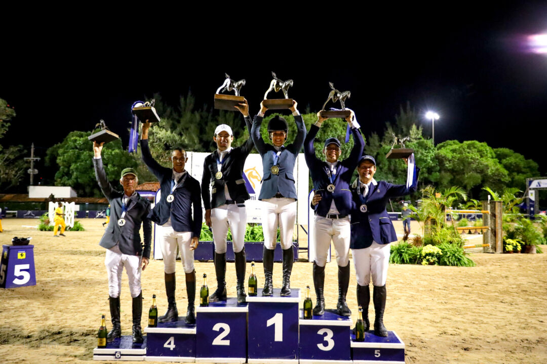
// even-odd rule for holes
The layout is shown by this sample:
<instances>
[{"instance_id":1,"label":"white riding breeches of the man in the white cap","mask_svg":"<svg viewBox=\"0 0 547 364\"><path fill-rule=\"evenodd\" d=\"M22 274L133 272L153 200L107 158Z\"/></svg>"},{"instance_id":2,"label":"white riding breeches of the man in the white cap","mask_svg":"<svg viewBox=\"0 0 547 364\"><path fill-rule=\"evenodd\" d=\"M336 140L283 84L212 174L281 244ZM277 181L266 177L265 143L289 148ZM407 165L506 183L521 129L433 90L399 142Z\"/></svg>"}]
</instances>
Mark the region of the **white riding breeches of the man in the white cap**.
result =
<instances>
[{"instance_id":1,"label":"white riding breeches of the man in the white cap","mask_svg":"<svg viewBox=\"0 0 547 364\"><path fill-rule=\"evenodd\" d=\"M226 234L228 228L232 233L234 253L245 247L245 228L247 227L247 210L236 204L222 205L211 210L211 228L213 229L214 251L226 253Z\"/></svg>"}]
</instances>

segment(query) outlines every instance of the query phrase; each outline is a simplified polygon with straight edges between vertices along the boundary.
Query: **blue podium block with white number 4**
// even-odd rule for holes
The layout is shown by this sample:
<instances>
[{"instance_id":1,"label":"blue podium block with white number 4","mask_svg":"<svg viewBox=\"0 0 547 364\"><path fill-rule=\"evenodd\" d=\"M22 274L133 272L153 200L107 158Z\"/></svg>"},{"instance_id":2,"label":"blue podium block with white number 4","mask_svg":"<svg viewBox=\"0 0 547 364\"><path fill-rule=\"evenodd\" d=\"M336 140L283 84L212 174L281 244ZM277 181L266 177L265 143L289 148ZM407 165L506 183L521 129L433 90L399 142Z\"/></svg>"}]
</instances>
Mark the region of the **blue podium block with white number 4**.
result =
<instances>
[{"instance_id":1,"label":"blue podium block with white number 4","mask_svg":"<svg viewBox=\"0 0 547 364\"><path fill-rule=\"evenodd\" d=\"M196 358L196 325L184 319L145 327L147 333L146 361L191 362Z\"/></svg>"}]
</instances>

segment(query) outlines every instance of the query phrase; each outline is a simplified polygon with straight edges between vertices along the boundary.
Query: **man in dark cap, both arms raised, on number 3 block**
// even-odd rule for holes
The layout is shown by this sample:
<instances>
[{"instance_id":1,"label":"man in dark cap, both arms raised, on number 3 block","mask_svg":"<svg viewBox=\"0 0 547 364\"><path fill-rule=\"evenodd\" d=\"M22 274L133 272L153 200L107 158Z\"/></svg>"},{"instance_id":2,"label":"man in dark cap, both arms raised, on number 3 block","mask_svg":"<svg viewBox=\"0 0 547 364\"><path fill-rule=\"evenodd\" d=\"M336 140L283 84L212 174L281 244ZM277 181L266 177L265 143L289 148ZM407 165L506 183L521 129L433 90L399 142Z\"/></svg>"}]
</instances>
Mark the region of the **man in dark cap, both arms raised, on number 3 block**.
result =
<instances>
[{"instance_id":1,"label":"man in dark cap, both arms raised, on number 3 block","mask_svg":"<svg viewBox=\"0 0 547 364\"><path fill-rule=\"evenodd\" d=\"M325 162L317 158L313 148L313 138L326 118L317 113L317 122L310 127L310 133L304 141L304 156L310 169L311 179L315 195L311 201L315 210L315 245L316 256L313 260L313 285L316 293L316 306L314 315L322 315L325 308L324 280L325 265L327 264L327 252L330 241L334 243L336 250L336 262L338 264L338 302L336 311L339 315L350 316L350 308L346 304L347 288L350 284L350 210L351 192L350 182L353 171L357 166L359 156L363 153L364 140L359 132L359 124L353 111L346 118L351 127L354 145L350 156L339 160L340 141L336 138L325 140L323 154Z\"/></svg>"}]
</instances>

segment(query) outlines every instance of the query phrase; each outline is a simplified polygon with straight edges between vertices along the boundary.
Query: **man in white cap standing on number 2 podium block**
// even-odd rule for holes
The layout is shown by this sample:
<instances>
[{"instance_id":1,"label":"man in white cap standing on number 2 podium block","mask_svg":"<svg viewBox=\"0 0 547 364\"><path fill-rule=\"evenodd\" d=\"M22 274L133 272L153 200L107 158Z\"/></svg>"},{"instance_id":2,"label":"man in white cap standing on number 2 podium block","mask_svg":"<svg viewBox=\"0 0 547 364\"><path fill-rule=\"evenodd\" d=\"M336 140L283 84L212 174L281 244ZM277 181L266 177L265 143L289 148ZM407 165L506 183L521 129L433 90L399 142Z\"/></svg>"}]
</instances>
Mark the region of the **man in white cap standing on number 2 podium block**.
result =
<instances>
[{"instance_id":1,"label":"man in white cap standing on number 2 podium block","mask_svg":"<svg viewBox=\"0 0 547 364\"><path fill-rule=\"evenodd\" d=\"M247 130L251 132L247 100L236 109L245 117ZM249 138L242 146L232 147L232 129L221 124L214 130L213 140L217 150L205 157L201 178L201 196L205 206L205 222L213 229L214 270L217 289L209 297L210 302L226 300L226 235L232 233L237 277L237 302L245 302L245 228L247 210L245 201L251 198L243 179L245 160L253 149ZM211 194L209 186L211 185Z\"/></svg>"}]
</instances>

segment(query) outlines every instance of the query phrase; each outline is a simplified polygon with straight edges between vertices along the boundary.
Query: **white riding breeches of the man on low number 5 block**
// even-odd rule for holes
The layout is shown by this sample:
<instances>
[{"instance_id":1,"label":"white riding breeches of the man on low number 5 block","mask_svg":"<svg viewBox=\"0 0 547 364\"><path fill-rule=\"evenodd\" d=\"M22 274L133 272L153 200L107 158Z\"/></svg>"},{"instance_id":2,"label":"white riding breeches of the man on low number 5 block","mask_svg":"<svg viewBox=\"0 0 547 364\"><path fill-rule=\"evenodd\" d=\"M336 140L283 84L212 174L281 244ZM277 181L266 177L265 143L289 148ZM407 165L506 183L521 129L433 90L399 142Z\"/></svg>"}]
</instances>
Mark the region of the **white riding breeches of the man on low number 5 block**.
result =
<instances>
[{"instance_id":1,"label":"white riding breeches of the man on low number 5 block","mask_svg":"<svg viewBox=\"0 0 547 364\"><path fill-rule=\"evenodd\" d=\"M373 278L373 284L378 287L386 284L390 246L391 244L379 244L373 241L368 248L351 249L359 285L369 285L370 277Z\"/></svg>"}]
</instances>

